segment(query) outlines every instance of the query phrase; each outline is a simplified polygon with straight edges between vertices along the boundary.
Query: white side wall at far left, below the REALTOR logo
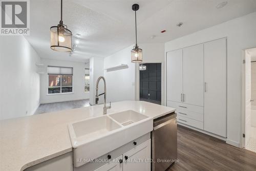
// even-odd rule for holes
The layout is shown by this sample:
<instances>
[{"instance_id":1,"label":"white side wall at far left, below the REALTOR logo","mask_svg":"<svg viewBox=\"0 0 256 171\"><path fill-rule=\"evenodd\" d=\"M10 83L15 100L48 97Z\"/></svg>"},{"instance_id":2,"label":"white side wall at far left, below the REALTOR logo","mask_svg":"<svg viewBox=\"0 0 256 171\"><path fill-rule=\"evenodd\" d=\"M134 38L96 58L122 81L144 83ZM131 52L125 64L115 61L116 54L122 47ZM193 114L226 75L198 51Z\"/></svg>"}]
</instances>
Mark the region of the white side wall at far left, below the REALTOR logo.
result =
<instances>
[{"instance_id":1,"label":"white side wall at far left, below the REALTOR logo","mask_svg":"<svg viewBox=\"0 0 256 171\"><path fill-rule=\"evenodd\" d=\"M34 114L40 96L37 62L24 36L0 36L0 119Z\"/></svg>"}]
</instances>

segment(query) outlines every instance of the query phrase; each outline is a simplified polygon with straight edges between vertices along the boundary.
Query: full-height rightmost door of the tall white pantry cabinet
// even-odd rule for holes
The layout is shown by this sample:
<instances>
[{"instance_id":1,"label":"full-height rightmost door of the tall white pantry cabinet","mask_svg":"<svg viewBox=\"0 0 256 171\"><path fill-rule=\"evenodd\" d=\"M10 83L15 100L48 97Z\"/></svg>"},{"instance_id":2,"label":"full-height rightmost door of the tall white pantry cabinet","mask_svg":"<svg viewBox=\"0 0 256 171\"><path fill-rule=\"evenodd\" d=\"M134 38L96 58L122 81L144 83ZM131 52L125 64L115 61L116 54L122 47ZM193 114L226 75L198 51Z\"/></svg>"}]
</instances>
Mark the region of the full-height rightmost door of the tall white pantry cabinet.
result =
<instances>
[{"instance_id":1,"label":"full-height rightmost door of the tall white pantry cabinet","mask_svg":"<svg viewBox=\"0 0 256 171\"><path fill-rule=\"evenodd\" d=\"M204 130L226 137L226 39L204 44Z\"/></svg>"}]
</instances>

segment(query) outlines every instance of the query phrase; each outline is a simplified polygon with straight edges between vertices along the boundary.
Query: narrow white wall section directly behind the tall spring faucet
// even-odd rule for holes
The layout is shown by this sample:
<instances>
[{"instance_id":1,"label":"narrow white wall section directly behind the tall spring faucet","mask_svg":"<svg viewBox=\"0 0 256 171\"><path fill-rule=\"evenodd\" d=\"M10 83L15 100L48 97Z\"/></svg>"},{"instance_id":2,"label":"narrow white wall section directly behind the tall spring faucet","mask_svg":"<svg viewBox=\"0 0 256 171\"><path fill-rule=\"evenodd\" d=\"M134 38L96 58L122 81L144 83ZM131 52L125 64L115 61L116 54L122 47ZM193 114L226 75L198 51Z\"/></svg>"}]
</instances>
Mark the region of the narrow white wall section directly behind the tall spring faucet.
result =
<instances>
[{"instance_id":1,"label":"narrow white wall section directly behind the tall spring faucet","mask_svg":"<svg viewBox=\"0 0 256 171\"><path fill-rule=\"evenodd\" d=\"M104 76L103 72L103 58L99 57L91 57L90 58L90 104L94 105L95 104L95 96L96 96L96 81L100 76ZM103 93L103 80L100 80L99 82L99 89L98 89L98 94ZM108 93L108 91L107 91ZM106 96L108 98L108 96ZM103 103L104 102L104 95L101 95L99 97L98 103Z\"/></svg>"}]
</instances>

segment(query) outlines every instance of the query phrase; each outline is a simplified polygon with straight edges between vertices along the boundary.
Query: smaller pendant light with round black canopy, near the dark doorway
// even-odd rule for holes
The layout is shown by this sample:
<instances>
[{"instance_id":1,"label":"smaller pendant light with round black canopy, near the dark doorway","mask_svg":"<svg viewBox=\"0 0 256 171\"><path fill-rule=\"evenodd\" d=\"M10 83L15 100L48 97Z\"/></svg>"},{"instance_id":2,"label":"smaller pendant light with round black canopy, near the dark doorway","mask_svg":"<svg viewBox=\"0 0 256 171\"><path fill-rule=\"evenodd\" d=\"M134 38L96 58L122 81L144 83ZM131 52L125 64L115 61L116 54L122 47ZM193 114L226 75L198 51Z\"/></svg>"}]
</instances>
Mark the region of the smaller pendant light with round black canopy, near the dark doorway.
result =
<instances>
[{"instance_id":1,"label":"smaller pendant light with round black canopy, near the dark doorway","mask_svg":"<svg viewBox=\"0 0 256 171\"><path fill-rule=\"evenodd\" d=\"M137 45L137 16L136 11L138 11L140 6L138 4L134 4L132 6L133 11L135 11L135 35L136 35L136 45L134 46L134 49L132 50L132 62L140 63L142 62L142 49L139 48Z\"/></svg>"}]
</instances>

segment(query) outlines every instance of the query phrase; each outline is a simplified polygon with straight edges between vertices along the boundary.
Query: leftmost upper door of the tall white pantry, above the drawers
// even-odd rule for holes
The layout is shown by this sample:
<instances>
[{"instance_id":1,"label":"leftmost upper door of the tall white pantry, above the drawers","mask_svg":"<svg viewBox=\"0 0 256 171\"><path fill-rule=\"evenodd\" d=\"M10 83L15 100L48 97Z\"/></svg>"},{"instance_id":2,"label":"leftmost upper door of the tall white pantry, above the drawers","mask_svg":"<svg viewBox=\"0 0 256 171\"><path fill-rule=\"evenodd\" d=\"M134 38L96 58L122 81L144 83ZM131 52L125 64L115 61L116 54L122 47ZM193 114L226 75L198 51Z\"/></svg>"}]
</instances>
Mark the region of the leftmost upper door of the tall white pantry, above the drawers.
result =
<instances>
[{"instance_id":1,"label":"leftmost upper door of the tall white pantry, above the drawers","mask_svg":"<svg viewBox=\"0 0 256 171\"><path fill-rule=\"evenodd\" d=\"M167 100L182 102L182 50L167 53Z\"/></svg>"}]
</instances>

